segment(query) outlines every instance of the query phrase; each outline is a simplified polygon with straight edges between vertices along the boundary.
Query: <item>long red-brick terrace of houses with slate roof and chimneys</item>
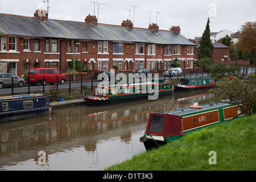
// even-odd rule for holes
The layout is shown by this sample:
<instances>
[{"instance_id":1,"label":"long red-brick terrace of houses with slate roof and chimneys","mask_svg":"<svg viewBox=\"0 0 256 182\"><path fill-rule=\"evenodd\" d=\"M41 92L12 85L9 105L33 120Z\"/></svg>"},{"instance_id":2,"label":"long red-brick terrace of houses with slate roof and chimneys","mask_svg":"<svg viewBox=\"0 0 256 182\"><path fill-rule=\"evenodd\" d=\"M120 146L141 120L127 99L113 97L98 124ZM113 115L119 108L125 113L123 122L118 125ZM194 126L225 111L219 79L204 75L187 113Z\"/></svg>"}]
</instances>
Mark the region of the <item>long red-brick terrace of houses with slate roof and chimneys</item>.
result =
<instances>
[{"instance_id":1,"label":"long red-brick terrace of houses with slate roof and chimneys","mask_svg":"<svg viewBox=\"0 0 256 182\"><path fill-rule=\"evenodd\" d=\"M180 35L179 26L159 30L152 23L135 28L130 20L117 26L97 23L91 15L85 22L55 20L43 10L32 17L0 13L0 38L0 61L9 63L17 76L30 68L58 68L65 73L74 55L93 71L113 65L121 71L166 70L175 58L183 68L191 68L196 46Z\"/></svg>"}]
</instances>

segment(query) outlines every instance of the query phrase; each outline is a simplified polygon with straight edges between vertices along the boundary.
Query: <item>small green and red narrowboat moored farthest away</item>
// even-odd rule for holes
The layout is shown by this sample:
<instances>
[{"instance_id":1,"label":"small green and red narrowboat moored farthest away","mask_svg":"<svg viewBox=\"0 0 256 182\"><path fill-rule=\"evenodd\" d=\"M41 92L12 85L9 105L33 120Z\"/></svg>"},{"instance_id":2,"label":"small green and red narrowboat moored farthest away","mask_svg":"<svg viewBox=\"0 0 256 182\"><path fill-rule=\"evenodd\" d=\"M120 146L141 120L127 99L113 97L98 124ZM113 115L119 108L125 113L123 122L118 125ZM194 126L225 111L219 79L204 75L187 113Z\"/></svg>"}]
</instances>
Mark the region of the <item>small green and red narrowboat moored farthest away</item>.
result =
<instances>
[{"instance_id":1,"label":"small green and red narrowboat moored farthest away","mask_svg":"<svg viewBox=\"0 0 256 182\"><path fill-rule=\"evenodd\" d=\"M179 84L175 84L175 92L191 92L193 90L210 89L216 86L216 79L209 77L181 78Z\"/></svg>"}]
</instances>

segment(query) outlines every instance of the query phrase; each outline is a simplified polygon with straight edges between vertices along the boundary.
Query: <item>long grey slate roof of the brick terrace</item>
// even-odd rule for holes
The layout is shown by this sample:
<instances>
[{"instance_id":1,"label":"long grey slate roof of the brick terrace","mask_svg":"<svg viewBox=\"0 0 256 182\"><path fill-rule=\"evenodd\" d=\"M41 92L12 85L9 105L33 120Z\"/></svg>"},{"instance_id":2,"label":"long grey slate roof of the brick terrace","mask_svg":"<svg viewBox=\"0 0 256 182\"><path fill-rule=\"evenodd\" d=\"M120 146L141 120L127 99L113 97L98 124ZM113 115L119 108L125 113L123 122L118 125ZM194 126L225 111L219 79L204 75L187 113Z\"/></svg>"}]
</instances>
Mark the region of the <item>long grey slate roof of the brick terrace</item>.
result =
<instances>
[{"instance_id":1,"label":"long grey slate roof of the brick terrace","mask_svg":"<svg viewBox=\"0 0 256 182\"><path fill-rule=\"evenodd\" d=\"M0 35L31 36L36 38L82 39L96 41L138 42L151 44L191 45L184 36L176 32L159 30L154 32L146 28L133 28L98 24L97 27L85 22L48 19L29 16L1 14Z\"/></svg>"}]
</instances>

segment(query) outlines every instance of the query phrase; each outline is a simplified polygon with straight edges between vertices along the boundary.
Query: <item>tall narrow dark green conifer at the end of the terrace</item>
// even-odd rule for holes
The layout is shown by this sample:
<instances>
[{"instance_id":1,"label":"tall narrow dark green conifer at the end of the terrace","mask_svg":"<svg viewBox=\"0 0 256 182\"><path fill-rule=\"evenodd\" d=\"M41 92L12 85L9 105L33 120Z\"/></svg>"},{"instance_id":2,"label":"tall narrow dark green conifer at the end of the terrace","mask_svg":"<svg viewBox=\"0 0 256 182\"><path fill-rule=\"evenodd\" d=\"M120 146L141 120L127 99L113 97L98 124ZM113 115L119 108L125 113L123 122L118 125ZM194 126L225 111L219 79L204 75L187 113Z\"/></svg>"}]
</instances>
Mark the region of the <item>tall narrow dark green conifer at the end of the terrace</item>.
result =
<instances>
[{"instance_id":1,"label":"tall narrow dark green conifer at the end of the terrace","mask_svg":"<svg viewBox=\"0 0 256 182\"><path fill-rule=\"evenodd\" d=\"M199 52L198 52L198 58L210 58L212 60L212 53L213 53L213 45L210 42L210 26L209 26L210 20L208 18L207 26L205 27L203 36L199 46Z\"/></svg>"}]
</instances>

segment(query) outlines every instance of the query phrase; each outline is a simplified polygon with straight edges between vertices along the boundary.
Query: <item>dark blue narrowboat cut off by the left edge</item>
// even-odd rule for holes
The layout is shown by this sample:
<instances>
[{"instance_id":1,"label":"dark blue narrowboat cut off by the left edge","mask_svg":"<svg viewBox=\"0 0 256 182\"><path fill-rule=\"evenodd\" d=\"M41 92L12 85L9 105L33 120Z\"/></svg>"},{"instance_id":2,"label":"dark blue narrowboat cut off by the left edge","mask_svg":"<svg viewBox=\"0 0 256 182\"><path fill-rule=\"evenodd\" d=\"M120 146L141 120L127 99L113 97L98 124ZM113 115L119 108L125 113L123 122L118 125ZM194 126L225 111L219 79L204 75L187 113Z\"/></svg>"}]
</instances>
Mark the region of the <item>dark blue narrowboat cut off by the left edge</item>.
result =
<instances>
[{"instance_id":1,"label":"dark blue narrowboat cut off by the left edge","mask_svg":"<svg viewBox=\"0 0 256 182\"><path fill-rule=\"evenodd\" d=\"M0 105L0 122L39 117L51 113L46 94L0 97Z\"/></svg>"}]
</instances>

